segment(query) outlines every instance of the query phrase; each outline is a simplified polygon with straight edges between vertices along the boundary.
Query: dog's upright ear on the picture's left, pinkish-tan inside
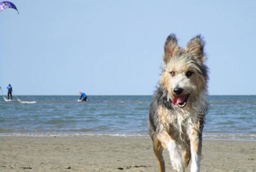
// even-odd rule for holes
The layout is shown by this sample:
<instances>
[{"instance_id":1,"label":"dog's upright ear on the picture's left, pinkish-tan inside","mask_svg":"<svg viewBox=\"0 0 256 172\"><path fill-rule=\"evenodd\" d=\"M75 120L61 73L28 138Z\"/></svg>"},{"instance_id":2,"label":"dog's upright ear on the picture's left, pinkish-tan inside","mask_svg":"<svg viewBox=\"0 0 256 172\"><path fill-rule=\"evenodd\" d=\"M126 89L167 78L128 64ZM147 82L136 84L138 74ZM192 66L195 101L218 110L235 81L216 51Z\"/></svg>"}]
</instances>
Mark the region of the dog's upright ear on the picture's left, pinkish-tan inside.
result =
<instances>
[{"instance_id":1,"label":"dog's upright ear on the picture's left, pinkish-tan inside","mask_svg":"<svg viewBox=\"0 0 256 172\"><path fill-rule=\"evenodd\" d=\"M168 61L174 56L176 50L178 49L178 41L175 34L170 34L164 44L164 56L163 60L167 64Z\"/></svg>"}]
</instances>

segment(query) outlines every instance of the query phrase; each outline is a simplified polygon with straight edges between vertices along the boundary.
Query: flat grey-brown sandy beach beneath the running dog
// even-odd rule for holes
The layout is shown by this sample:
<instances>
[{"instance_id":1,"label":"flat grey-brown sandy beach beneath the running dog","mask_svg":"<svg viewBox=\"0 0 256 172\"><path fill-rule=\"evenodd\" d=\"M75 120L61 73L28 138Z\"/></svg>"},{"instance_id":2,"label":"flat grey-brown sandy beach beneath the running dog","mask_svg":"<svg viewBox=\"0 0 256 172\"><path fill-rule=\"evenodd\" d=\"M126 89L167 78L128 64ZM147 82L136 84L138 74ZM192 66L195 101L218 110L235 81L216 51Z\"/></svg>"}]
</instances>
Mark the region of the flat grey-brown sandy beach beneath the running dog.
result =
<instances>
[{"instance_id":1,"label":"flat grey-brown sandy beach beneath the running dog","mask_svg":"<svg viewBox=\"0 0 256 172\"><path fill-rule=\"evenodd\" d=\"M173 171L166 150L164 158ZM0 137L0 171L157 172L157 165L150 138ZM204 140L201 171L256 171L256 141Z\"/></svg>"}]
</instances>

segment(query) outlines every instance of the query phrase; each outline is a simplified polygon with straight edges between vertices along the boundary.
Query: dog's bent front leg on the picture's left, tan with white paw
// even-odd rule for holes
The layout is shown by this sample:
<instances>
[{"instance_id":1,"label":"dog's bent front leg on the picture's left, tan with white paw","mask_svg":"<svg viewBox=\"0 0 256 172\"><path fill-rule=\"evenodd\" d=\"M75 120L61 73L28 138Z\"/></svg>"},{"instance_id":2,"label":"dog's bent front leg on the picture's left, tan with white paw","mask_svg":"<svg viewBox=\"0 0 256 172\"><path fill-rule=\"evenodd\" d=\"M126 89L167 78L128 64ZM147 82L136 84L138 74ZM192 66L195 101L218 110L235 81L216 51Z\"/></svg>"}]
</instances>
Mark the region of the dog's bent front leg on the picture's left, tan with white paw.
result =
<instances>
[{"instance_id":1,"label":"dog's bent front leg on the picture's left, tan with white paw","mask_svg":"<svg viewBox=\"0 0 256 172\"><path fill-rule=\"evenodd\" d=\"M184 172L184 163L176 141L173 140L166 131L158 133L157 137L158 140L160 140L162 146L167 147L174 170L177 172Z\"/></svg>"}]
</instances>

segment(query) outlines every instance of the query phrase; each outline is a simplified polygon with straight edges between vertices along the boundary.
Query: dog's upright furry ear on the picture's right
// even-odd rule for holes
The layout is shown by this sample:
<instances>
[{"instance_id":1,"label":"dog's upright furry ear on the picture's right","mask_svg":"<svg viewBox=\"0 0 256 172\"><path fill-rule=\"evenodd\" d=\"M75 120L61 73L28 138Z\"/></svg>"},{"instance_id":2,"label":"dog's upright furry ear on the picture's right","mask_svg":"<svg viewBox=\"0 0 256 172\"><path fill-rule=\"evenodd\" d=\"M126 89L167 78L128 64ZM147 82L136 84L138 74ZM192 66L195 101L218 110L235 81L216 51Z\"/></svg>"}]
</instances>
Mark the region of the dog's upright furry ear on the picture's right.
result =
<instances>
[{"instance_id":1,"label":"dog's upright furry ear on the picture's right","mask_svg":"<svg viewBox=\"0 0 256 172\"><path fill-rule=\"evenodd\" d=\"M204 56L204 44L205 42L202 36L199 34L188 42L186 50L192 54L196 60L199 62L204 62L206 59Z\"/></svg>"}]
</instances>

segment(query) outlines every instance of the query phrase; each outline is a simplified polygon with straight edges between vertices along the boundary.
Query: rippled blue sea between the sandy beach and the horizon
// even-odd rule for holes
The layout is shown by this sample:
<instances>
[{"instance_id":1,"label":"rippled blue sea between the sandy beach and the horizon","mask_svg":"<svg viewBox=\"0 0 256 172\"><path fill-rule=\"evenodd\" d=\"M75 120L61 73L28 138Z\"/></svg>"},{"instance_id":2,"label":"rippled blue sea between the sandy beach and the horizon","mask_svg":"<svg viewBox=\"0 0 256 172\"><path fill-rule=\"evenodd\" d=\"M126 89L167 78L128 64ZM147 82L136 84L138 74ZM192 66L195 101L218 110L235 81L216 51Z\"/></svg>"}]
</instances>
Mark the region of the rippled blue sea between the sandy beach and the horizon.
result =
<instances>
[{"instance_id":1,"label":"rippled blue sea between the sandy beach and the horizon","mask_svg":"<svg viewBox=\"0 0 256 172\"><path fill-rule=\"evenodd\" d=\"M147 136L152 96L0 99L0 136ZM15 99L15 98L14 98ZM256 96L209 96L203 138L256 140Z\"/></svg>"}]
</instances>

